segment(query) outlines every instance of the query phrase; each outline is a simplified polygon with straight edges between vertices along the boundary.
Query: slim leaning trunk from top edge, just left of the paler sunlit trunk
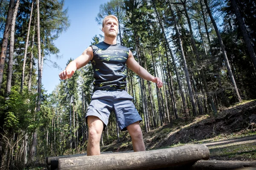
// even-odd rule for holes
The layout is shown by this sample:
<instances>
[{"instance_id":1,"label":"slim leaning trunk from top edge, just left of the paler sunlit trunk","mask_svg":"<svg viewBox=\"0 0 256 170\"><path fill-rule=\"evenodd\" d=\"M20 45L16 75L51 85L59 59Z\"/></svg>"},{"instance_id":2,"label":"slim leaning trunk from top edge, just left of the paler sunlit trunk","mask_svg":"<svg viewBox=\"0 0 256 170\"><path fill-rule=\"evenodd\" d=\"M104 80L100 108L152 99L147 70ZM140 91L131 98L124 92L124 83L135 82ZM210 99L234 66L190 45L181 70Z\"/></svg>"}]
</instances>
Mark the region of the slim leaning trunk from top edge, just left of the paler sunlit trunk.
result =
<instances>
[{"instance_id":1,"label":"slim leaning trunk from top edge, just left of the paler sunlit trunk","mask_svg":"<svg viewBox=\"0 0 256 170\"><path fill-rule=\"evenodd\" d=\"M154 10L155 10L155 12L156 12L156 14L157 14L157 20L158 20L158 22L159 22L159 24L160 24L160 27L161 27L161 29L162 29L162 32L163 32L163 36L164 36L164 39L165 39L165 43L166 43L167 48L168 48L168 50L169 50L169 53L171 54L171 57L172 57L172 64L173 64L173 66L174 66L174 70L175 70L175 74L176 74L176 78L177 78L177 82L178 82L178 86L179 86L180 96L181 96L181 100L182 100L182 103L183 103L183 112L186 114L186 116L189 116L189 111L188 111L188 109L187 109L187 104L186 104L185 96L184 96L184 94L183 94L183 90L182 90L182 86L181 86L181 82L180 82L180 75L179 75L179 72L178 72L178 70L177 70L177 66L176 66L176 64L175 64L175 59L174 59L174 56L173 56L173 54L172 54L172 49L171 49L171 47L170 47L170 45L169 45L167 36L166 36L166 34L165 34L162 20L160 19L160 16L159 16L159 14L158 14L157 8L156 8L156 6L155 6L155 1L152 0L152 3L153 3L153 6L154 6Z\"/></svg>"}]
</instances>

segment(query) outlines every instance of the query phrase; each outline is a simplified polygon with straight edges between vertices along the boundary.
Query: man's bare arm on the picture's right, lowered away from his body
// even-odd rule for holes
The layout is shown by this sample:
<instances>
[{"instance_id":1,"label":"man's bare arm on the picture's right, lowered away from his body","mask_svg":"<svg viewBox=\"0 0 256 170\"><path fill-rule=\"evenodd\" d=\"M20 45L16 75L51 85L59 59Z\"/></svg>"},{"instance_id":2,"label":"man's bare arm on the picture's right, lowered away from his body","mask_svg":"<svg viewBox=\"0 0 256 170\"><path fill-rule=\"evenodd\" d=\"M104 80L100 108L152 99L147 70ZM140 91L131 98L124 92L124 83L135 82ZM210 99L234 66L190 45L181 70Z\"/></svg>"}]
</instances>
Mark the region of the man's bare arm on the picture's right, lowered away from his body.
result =
<instances>
[{"instance_id":1,"label":"man's bare arm on the picture's right, lowered away from his body","mask_svg":"<svg viewBox=\"0 0 256 170\"><path fill-rule=\"evenodd\" d=\"M130 68L134 73L139 75L141 78L157 83L157 87L161 88L163 86L163 82L159 77L154 77L148 71L145 70L145 68L141 67L139 63L134 59L134 56L131 53L131 50L129 50L129 57L126 61L126 65L128 68Z\"/></svg>"}]
</instances>

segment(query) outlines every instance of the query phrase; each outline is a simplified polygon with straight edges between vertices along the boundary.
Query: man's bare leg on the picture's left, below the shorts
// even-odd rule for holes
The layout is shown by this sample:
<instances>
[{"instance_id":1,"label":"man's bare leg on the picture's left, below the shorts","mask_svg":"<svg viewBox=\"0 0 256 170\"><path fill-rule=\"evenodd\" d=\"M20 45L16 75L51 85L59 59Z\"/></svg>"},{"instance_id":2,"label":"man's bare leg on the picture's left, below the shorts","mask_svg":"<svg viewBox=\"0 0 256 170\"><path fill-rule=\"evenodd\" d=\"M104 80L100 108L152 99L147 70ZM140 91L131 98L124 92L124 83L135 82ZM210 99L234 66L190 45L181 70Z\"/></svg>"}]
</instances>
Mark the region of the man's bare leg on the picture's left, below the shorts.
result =
<instances>
[{"instance_id":1,"label":"man's bare leg on the picture's left, below the shorts","mask_svg":"<svg viewBox=\"0 0 256 170\"><path fill-rule=\"evenodd\" d=\"M103 122L96 116L88 116L89 136L87 143L87 156L100 154L100 137L103 130Z\"/></svg>"}]
</instances>

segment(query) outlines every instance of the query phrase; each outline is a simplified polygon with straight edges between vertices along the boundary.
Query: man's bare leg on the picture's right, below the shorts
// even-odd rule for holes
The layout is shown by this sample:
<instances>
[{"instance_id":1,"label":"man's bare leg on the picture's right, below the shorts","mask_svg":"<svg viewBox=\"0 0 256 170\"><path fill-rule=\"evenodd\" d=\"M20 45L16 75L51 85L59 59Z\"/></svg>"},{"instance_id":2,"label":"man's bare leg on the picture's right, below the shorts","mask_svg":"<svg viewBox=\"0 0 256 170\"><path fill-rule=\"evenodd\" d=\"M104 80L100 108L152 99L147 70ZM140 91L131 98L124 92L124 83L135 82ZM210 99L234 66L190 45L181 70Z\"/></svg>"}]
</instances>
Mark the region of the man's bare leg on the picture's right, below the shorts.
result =
<instances>
[{"instance_id":1,"label":"man's bare leg on the picture's right, below the shorts","mask_svg":"<svg viewBox=\"0 0 256 170\"><path fill-rule=\"evenodd\" d=\"M140 122L138 121L126 127L128 132L131 135L131 141L132 141L134 152L145 150L143 134L142 134L139 123Z\"/></svg>"}]
</instances>

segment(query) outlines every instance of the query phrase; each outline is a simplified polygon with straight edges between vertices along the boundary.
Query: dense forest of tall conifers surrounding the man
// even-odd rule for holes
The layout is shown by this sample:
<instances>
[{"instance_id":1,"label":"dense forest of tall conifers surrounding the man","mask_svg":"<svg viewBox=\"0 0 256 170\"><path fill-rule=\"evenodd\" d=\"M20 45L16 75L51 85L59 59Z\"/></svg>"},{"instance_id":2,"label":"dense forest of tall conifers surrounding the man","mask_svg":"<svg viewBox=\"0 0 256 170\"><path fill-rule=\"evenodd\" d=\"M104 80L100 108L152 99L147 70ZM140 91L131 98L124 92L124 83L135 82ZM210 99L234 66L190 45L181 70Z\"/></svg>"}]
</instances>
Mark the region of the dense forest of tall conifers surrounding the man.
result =
<instances>
[{"instance_id":1,"label":"dense forest of tall conifers surrounding the man","mask_svg":"<svg viewBox=\"0 0 256 170\"><path fill-rule=\"evenodd\" d=\"M92 65L61 80L51 94L41 82L44 61L59 53L54 40L70 26L64 3L0 0L0 169L86 152ZM163 80L159 89L127 69L126 90L143 118L143 133L256 99L254 0L109 0L99 9L96 22L115 15L118 43ZM103 40L91 38L92 44ZM111 114L101 145L126 134Z\"/></svg>"}]
</instances>

